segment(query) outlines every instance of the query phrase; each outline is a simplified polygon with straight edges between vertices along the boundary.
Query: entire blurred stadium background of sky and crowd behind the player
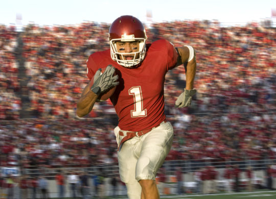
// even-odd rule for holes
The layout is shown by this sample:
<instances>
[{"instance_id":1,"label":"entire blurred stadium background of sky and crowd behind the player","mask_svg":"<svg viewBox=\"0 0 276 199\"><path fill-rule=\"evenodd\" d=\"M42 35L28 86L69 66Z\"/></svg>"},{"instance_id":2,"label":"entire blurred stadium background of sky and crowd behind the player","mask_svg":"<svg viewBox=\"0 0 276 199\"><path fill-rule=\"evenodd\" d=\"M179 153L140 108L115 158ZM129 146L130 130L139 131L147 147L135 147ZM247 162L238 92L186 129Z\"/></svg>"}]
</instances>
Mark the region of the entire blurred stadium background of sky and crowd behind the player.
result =
<instances>
[{"instance_id":1,"label":"entire blurred stadium background of sky and crowd behind the player","mask_svg":"<svg viewBox=\"0 0 276 199\"><path fill-rule=\"evenodd\" d=\"M227 179L232 182L231 191L238 191L237 173L241 189L249 190L249 182L251 189L276 188L275 3L253 2L249 10L247 1L242 1L241 8L235 2L220 7L217 1L208 1L209 5L204 1L197 5L153 1L141 12L134 5L132 12L133 5L125 11L125 1L122 7L112 7L109 1L99 5L60 2L3 3L0 9L3 197L11 187L14 195L22 195L24 179L29 195L36 185L37 194L42 194L40 181L44 177L49 194L58 197L59 174L64 176L66 196L70 196L72 173L79 179L79 196L87 190L94 196L126 194L118 176L113 134L117 115L112 104L109 100L98 103L84 118L75 113L88 83L86 60L109 48L110 23L124 14L142 20L148 42L165 38L176 47L192 45L197 53L197 94L189 108L174 108L176 97L185 88L184 67L167 73L165 111L175 138L157 173L159 186L164 186L162 193L227 191ZM242 7L244 2L247 7ZM231 175L227 177L228 168ZM212 169L216 175L210 174ZM248 170L252 170L251 177ZM181 179L176 178L179 172ZM212 190L204 189L203 182L212 180L217 182ZM180 189L178 182L182 182ZM104 188L97 190L98 184Z\"/></svg>"}]
</instances>

